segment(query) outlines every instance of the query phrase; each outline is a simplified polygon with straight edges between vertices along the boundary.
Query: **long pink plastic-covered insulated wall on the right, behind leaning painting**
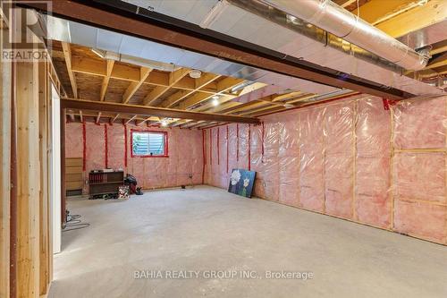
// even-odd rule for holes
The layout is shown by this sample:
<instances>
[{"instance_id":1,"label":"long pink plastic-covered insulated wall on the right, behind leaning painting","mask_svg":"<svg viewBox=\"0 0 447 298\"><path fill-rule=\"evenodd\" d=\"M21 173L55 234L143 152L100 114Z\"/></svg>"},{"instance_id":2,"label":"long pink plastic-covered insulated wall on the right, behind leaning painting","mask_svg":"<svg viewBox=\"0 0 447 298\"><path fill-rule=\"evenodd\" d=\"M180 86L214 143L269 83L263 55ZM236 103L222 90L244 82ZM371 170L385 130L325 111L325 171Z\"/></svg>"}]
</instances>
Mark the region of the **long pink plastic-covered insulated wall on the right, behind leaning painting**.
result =
<instances>
[{"instance_id":1,"label":"long pink plastic-covered insulated wall on the right, behind leaning painting","mask_svg":"<svg viewBox=\"0 0 447 298\"><path fill-rule=\"evenodd\" d=\"M357 96L208 129L205 181L250 168L257 197L447 244L446 110Z\"/></svg>"}]
</instances>

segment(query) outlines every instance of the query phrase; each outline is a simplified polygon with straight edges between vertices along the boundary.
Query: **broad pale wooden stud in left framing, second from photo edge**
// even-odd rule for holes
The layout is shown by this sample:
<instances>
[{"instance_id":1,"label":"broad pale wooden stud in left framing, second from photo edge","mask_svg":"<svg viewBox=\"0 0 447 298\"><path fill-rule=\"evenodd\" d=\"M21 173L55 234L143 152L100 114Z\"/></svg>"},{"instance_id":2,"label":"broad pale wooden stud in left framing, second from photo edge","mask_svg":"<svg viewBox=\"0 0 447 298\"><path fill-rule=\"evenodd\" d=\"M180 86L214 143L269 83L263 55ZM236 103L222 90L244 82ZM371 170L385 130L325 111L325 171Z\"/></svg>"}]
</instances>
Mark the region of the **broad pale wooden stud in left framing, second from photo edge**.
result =
<instances>
[{"instance_id":1,"label":"broad pale wooden stud in left framing, second from photo edge","mask_svg":"<svg viewBox=\"0 0 447 298\"><path fill-rule=\"evenodd\" d=\"M39 295L38 63L17 63L17 296Z\"/></svg>"}]
</instances>

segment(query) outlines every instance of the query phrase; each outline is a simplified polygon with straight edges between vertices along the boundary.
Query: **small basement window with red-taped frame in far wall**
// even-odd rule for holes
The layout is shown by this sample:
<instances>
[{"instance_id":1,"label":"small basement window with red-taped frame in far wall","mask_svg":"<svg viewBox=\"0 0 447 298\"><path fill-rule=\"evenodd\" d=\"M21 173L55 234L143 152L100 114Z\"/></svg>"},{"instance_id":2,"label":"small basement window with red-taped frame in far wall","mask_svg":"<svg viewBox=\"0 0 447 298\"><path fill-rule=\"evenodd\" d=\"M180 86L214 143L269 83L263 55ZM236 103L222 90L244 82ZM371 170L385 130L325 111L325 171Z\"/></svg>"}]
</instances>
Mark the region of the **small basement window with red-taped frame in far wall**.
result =
<instances>
[{"instance_id":1,"label":"small basement window with red-taped frame in far wall","mask_svg":"<svg viewBox=\"0 0 447 298\"><path fill-rule=\"evenodd\" d=\"M167 158L167 132L132 130L131 146L132 158Z\"/></svg>"}]
</instances>

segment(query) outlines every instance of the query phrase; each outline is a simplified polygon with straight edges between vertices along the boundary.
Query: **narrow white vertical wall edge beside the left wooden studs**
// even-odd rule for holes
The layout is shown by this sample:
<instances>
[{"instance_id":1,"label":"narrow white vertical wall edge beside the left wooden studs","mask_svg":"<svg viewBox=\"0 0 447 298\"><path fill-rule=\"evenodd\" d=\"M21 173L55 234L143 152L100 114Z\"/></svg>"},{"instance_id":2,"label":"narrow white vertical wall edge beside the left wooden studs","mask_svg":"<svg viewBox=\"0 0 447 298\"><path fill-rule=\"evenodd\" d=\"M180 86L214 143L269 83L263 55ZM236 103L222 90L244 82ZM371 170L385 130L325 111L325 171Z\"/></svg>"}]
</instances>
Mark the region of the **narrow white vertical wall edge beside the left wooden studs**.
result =
<instances>
[{"instance_id":1,"label":"narrow white vertical wall edge beside the left wooden studs","mask_svg":"<svg viewBox=\"0 0 447 298\"><path fill-rule=\"evenodd\" d=\"M61 218L61 115L60 98L51 88L52 106L52 140L51 140L51 214L53 230L53 252L61 252L62 218Z\"/></svg>"}]
</instances>

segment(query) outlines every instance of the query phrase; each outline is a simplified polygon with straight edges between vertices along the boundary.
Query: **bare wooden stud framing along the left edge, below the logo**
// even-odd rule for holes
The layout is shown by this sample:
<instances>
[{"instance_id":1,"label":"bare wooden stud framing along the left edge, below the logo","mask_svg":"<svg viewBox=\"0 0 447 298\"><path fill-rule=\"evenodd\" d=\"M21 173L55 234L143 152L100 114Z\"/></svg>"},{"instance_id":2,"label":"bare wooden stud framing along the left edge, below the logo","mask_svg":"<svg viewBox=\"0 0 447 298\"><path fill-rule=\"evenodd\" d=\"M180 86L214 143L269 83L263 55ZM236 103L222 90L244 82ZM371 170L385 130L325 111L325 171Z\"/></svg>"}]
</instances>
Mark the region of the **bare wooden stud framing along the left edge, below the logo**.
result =
<instances>
[{"instance_id":1,"label":"bare wooden stud framing along the left edge, below the logo","mask_svg":"<svg viewBox=\"0 0 447 298\"><path fill-rule=\"evenodd\" d=\"M50 60L0 61L0 297L45 296L52 279L51 82Z\"/></svg>"}]
</instances>

